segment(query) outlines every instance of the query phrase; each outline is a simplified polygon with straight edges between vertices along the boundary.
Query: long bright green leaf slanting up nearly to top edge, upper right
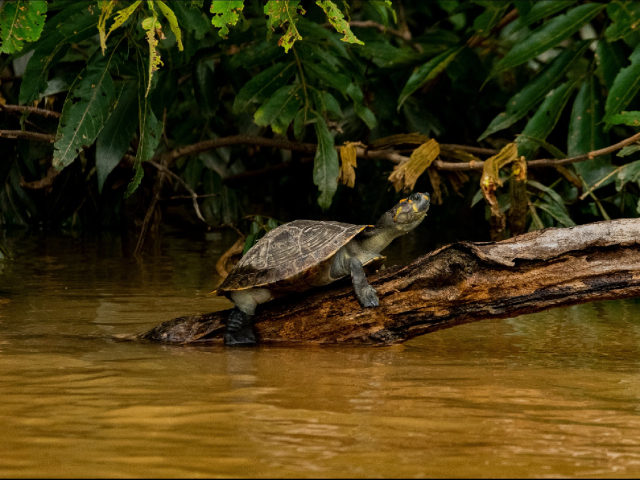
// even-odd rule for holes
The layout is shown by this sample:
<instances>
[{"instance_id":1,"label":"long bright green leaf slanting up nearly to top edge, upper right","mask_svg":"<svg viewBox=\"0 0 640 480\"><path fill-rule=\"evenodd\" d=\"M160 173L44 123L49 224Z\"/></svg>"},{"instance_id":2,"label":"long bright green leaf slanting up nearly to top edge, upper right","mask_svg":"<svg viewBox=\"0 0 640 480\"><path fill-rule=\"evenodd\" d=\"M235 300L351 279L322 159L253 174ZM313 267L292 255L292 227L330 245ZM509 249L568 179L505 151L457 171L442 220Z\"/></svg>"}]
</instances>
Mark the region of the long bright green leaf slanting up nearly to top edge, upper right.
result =
<instances>
[{"instance_id":1,"label":"long bright green leaf slanting up nearly to top edge, upper right","mask_svg":"<svg viewBox=\"0 0 640 480\"><path fill-rule=\"evenodd\" d=\"M604 8L605 5L599 3L580 5L546 22L531 32L522 42L514 45L505 57L495 65L491 77L521 65L555 47L580 30Z\"/></svg>"}]
</instances>

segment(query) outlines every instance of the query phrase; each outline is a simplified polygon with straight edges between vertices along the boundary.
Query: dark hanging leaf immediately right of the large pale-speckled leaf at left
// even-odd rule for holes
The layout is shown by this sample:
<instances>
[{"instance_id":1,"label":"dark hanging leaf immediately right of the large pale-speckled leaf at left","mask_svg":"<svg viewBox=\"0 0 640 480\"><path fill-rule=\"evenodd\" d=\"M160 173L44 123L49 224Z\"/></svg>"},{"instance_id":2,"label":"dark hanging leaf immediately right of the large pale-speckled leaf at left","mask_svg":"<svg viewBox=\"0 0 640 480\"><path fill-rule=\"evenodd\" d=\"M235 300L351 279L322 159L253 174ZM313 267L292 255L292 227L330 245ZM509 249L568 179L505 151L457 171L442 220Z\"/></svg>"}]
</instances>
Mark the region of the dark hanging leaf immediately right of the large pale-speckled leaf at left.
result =
<instances>
[{"instance_id":1,"label":"dark hanging leaf immediately right of the large pale-speckled leaf at left","mask_svg":"<svg viewBox=\"0 0 640 480\"><path fill-rule=\"evenodd\" d=\"M138 83L127 82L120 91L118 103L96 142L98 191L111 171L127 152L138 127Z\"/></svg>"}]
</instances>

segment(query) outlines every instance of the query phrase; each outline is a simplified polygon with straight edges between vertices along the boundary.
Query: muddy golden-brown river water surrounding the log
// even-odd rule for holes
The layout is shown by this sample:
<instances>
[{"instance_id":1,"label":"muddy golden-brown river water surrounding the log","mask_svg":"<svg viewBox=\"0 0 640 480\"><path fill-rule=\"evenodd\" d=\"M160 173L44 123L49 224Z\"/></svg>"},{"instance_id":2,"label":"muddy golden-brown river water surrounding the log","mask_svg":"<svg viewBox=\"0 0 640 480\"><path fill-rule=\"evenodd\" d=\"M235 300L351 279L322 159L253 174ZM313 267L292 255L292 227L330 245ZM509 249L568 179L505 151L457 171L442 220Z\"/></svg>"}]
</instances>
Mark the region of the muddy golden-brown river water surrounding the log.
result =
<instances>
[{"instance_id":1,"label":"muddy golden-brown river water surrounding the log","mask_svg":"<svg viewBox=\"0 0 640 480\"><path fill-rule=\"evenodd\" d=\"M123 342L226 308L233 238L4 235L0 477L640 476L638 301L389 348Z\"/></svg>"}]
</instances>

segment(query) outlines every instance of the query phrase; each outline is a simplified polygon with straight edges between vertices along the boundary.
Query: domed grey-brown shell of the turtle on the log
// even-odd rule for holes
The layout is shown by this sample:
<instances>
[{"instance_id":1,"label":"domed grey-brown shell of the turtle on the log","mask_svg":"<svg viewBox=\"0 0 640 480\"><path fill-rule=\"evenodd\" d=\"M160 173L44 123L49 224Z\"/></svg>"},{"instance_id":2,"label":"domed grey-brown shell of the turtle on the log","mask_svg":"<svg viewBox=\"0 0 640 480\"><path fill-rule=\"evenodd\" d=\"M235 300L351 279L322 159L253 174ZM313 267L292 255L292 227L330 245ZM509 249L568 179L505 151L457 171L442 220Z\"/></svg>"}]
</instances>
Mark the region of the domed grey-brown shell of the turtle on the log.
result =
<instances>
[{"instance_id":1,"label":"domed grey-brown shell of the turtle on the log","mask_svg":"<svg viewBox=\"0 0 640 480\"><path fill-rule=\"evenodd\" d=\"M217 293L278 284L293 286L314 273L358 233L370 227L340 222L295 220L274 228L238 262Z\"/></svg>"}]
</instances>

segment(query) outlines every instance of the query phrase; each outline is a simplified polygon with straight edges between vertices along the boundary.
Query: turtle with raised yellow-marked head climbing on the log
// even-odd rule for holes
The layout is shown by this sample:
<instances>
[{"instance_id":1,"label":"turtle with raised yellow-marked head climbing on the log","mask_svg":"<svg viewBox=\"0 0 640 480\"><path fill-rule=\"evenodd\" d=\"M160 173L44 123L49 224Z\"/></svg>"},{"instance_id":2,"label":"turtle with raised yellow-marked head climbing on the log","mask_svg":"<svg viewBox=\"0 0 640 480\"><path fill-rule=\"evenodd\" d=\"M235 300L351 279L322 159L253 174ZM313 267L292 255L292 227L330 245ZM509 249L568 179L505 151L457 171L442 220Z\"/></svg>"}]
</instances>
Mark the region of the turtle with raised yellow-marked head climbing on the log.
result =
<instances>
[{"instance_id":1,"label":"turtle with raised yellow-marked head climbing on the log","mask_svg":"<svg viewBox=\"0 0 640 480\"><path fill-rule=\"evenodd\" d=\"M393 239L409 233L426 216L428 193L400 200L373 225L294 220L270 230L238 262L216 290L235 304L229 314L225 345L253 345L256 307L274 298L351 275L363 308L379 306L365 273L381 268L381 255Z\"/></svg>"}]
</instances>

